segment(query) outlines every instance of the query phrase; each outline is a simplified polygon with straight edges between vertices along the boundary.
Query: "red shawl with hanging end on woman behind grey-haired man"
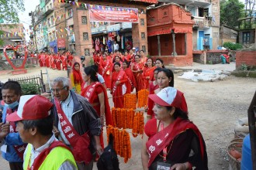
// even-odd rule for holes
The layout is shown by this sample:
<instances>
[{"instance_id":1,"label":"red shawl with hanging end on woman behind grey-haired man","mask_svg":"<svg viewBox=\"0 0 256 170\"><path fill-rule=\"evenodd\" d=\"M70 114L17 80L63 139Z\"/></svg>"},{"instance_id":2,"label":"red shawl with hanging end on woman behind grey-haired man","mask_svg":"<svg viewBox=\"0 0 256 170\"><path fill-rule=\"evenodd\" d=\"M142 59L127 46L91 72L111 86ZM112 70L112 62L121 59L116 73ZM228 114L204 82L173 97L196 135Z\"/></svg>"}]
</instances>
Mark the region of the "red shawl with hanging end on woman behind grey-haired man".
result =
<instances>
[{"instance_id":1,"label":"red shawl with hanging end on woman behind grey-haired man","mask_svg":"<svg viewBox=\"0 0 256 170\"><path fill-rule=\"evenodd\" d=\"M113 125L112 114L109 107L108 94L106 92L106 88L102 86L102 83L95 82L89 85L88 87L85 87L85 89L81 92L81 96L85 97L85 99L87 99L90 104L93 104L93 93L95 93L95 90L98 87L102 87L104 93L106 125Z\"/></svg>"}]
</instances>

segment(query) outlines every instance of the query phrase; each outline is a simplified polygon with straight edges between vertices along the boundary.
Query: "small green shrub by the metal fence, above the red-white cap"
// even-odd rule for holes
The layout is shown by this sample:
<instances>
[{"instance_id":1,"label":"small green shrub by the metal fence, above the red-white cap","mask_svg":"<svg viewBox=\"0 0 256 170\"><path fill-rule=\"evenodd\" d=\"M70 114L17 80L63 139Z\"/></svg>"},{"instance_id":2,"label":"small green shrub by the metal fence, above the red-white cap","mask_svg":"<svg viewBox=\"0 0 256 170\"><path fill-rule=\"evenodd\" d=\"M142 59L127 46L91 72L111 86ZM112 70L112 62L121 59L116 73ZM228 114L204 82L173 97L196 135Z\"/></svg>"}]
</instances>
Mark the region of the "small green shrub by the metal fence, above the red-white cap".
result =
<instances>
[{"instance_id":1,"label":"small green shrub by the metal fence, above the red-white cap","mask_svg":"<svg viewBox=\"0 0 256 170\"><path fill-rule=\"evenodd\" d=\"M36 82L20 82L22 95L40 94L39 85Z\"/></svg>"}]
</instances>

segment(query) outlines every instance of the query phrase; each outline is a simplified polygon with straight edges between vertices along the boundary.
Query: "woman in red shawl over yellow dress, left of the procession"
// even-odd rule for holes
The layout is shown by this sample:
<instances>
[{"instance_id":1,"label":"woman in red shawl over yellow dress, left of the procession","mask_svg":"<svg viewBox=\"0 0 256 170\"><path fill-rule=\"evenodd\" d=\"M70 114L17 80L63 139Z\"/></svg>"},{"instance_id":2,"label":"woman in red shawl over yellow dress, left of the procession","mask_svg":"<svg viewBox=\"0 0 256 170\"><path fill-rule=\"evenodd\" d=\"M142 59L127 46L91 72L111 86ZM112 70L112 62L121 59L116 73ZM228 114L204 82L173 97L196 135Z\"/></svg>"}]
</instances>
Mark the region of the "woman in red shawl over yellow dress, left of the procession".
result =
<instances>
[{"instance_id":1,"label":"woman in red shawl over yellow dress, left of the procession","mask_svg":"<svg viewBox=\"0 0 256 170\"><path fill-rule=\"evenodd\" d=\"M83 83L83 78L81 77L80 64L75 62L72 66L72 73L70 74L71 89L75 93L81 94L81 84Z\"/></svg>"}]
</instances>

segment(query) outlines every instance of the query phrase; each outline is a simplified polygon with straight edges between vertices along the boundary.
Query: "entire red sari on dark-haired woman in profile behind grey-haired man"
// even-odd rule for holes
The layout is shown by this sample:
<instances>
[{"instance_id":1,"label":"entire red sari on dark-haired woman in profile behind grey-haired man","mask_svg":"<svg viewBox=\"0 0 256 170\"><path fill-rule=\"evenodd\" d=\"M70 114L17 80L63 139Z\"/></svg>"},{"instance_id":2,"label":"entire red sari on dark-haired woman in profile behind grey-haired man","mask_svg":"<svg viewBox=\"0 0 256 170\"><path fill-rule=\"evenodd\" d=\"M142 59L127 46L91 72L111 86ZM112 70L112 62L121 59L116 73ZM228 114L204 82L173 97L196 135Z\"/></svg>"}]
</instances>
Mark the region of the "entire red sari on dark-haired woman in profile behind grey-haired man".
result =
<instances>
[{"instance_id":1,"label":"entire red sari on dark-haired woman in profile behind grey-haired man","mask_svg":"<svg viewBox=\"0 0 256 170\"><path fill-rule=\"evenodd\" d=\"M97 114L100 117L100 103L99 103L99 93L104 93L104 105L105 105L105 117L106 117L106 125L113 125L112 122L112 115L109 107L109 99L108 94L106 92L105 87L102 86L102 83L95 82L90 84L89 86L85 87L84 90L81 92L81 96L85 97L90 104L92 104L92 107L96 110ZM103 132L103 131L102 131ZM103 142L103 133L100 134L100 143L102 145L102 148L104 148L104 142Z\"/></svg>"}]
</instances>

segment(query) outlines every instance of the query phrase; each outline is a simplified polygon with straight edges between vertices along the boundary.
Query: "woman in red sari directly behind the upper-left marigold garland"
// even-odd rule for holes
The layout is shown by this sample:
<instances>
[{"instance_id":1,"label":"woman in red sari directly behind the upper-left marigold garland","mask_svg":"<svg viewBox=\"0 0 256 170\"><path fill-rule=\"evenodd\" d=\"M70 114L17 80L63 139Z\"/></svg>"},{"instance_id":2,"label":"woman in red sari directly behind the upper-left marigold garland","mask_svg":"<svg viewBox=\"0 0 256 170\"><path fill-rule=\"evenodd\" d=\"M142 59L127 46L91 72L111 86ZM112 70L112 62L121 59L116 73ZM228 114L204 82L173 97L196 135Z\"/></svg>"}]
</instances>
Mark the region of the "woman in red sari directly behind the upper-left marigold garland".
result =
<instances>
[{"instance_id":1,"label":"woman in red sari directly behind the upper-left marigold garland","mask_svg":"<svg viewBox=\"0 0 256 170\"><path fill-rule=\"evenodd\" d=\"M123 62L123 71L125 71L126 76L128 76L128 81L126 82L126 87L127 87L126 93L131 93L131 92L133 92L133 88L137 87L137 84L136 84L136 80L133 76L132 70L130 70L130 68L128 68L128 61Z\"/></svg>"}]
</instances>

